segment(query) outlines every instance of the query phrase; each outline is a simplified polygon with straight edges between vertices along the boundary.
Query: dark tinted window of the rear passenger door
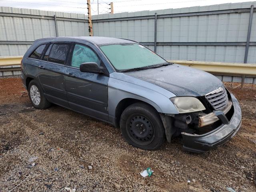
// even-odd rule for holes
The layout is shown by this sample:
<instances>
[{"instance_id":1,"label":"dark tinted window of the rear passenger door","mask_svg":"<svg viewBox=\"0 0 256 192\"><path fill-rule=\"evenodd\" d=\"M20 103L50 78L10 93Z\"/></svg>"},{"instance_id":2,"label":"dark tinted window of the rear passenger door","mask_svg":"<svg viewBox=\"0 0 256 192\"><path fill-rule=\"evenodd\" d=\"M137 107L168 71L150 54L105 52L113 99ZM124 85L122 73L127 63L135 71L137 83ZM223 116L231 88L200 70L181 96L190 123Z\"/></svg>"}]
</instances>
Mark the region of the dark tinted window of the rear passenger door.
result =
<instances>
[{"instance_id":1,"label":"dark tinted window of the rear passenger door","mask_svg":"<svg viewBox=\"0 0 256 192\"><path fill-rule=\"evenodd\" d=\"M49 62L64 64L68 53L69 44L56 43L53 44L48 58Z\"/></svg>"}]
</instances>

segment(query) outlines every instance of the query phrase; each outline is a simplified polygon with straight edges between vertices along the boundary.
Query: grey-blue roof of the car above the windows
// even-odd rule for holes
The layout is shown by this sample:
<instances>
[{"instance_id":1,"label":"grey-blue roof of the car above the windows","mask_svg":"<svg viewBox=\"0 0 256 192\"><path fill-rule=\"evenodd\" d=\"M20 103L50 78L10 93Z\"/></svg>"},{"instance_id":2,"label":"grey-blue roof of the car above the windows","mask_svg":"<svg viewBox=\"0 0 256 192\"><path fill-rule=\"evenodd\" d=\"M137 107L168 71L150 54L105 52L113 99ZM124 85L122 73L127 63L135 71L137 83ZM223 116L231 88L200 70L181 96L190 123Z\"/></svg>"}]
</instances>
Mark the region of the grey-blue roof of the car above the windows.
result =
<instances>
[{"instance_id":1,"label":"grey-blue roof of the car above the windows","mask_svg":"<svg viewBox=\"0 0 256 192\"><path fill-rule=\"evenodd\" d=\"M42 38L38 40L56 40L56 39L80 39L80 40L86 40L87 42L90 42L92 44L96 45L103 45L103 44L122 44L122 43L134 43L132 40L127 39L119 39L119 38L112 38L112 37L99 37L99 36L72 36L72 37L53 37L53 38ZM136 42L137 43L137 42Z\"/></svg>"}]
</instances>

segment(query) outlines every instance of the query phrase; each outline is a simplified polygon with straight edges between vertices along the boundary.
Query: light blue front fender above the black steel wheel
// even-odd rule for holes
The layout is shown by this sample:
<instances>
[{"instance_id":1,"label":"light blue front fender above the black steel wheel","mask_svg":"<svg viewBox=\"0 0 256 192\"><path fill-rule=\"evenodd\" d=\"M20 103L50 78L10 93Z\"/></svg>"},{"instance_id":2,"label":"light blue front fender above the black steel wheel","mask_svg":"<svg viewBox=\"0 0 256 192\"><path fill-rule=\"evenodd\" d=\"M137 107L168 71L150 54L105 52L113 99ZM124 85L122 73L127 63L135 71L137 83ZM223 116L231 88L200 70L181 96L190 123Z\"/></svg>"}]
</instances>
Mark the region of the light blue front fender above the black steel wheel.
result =
<instances>
[{"instance_id":1,"label":"light blue front fender above the black steel wheel","mask_svg":"<svg viewBox=\"0 0 256 192\"><path fill-rule=\"evenodd\" d=\"M116 107L125 98L142 100L152 105L158 112L178 114L174 104L170 101L174 97L172 92L154 84L127 76L123 73L111 73L108 81L108 114L114 122Z\"/></svg>"}]
</instances>

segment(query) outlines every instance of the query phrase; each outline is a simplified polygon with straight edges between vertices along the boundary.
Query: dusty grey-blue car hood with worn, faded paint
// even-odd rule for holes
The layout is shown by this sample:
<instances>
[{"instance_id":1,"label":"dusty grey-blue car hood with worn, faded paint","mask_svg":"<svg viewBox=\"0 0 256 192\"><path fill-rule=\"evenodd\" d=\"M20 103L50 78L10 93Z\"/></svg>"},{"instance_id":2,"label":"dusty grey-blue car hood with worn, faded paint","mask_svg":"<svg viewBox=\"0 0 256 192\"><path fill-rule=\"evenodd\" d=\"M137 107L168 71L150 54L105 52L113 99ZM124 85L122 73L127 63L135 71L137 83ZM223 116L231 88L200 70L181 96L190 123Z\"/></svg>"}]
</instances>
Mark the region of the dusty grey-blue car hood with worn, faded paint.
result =
<instances>
[{"instance_id":1,"label":"dusty grey-blue car hood with worn, faded paint","mask_svg":"<svg viewBox=\"0 0 256 192\"><path fill-rule=\"evenodd\" d=\"M176 96L204 96L223 86L212 74L178 64L125 74L158 85Z\"/></svg>"}]
</instances>

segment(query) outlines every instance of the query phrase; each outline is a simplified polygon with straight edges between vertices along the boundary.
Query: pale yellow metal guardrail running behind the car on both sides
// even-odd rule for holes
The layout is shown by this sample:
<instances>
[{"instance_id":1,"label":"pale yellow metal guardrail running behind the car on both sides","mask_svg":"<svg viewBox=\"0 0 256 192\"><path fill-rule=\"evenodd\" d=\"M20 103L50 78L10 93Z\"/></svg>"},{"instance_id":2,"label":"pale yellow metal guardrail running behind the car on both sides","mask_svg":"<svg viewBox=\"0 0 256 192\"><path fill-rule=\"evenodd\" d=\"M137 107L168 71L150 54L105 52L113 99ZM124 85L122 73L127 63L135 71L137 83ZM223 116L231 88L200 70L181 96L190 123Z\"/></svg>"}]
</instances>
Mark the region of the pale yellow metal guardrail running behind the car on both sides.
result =
<instances>
[{"instance_id":1,"label":"pale yellow metal guardrail running behind the car on both sides","mask_svg":"<svg viewBox=\"0 0 256 192\"><path fill-rule=\"evenodd\" d=\"M23 56L0 57L0 76L18 74L20 71L20 62ZM202 61L185 61L185 60L167 60L168 62L177 63L192 68L197 68L214 75L242 77L242 86L245 78L256 78L256 64L224 63L224 62L202 62ZM15 72L14 72L15 71Z\"/></svg>"}]
</instances>

